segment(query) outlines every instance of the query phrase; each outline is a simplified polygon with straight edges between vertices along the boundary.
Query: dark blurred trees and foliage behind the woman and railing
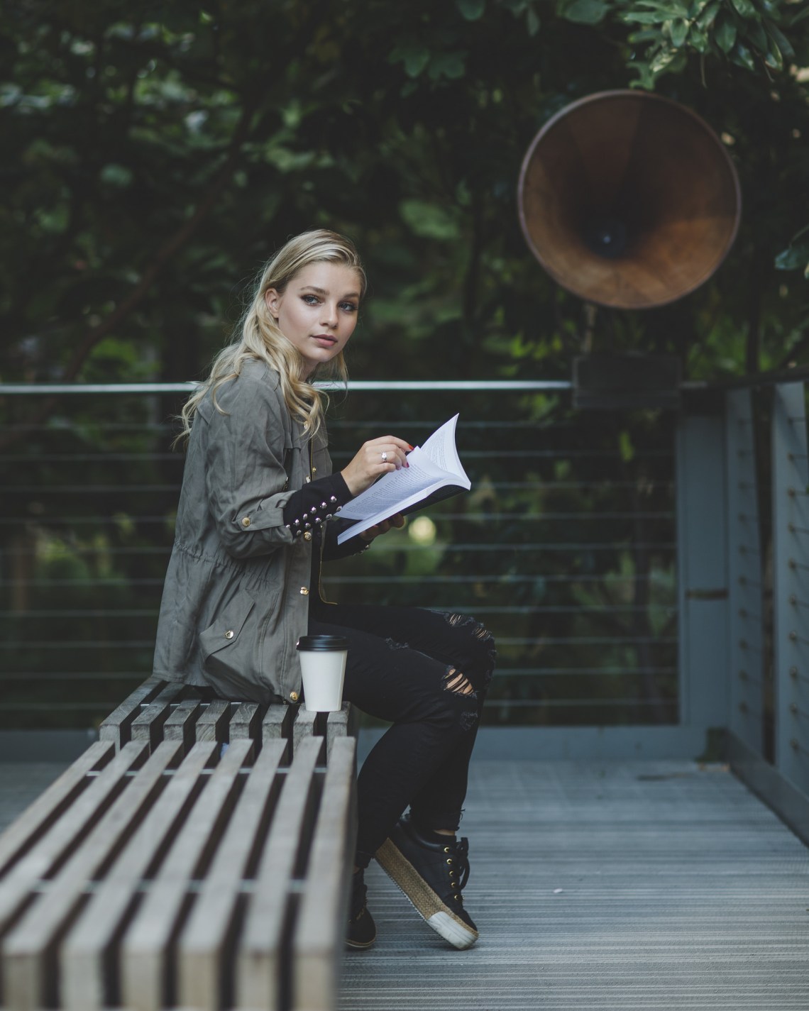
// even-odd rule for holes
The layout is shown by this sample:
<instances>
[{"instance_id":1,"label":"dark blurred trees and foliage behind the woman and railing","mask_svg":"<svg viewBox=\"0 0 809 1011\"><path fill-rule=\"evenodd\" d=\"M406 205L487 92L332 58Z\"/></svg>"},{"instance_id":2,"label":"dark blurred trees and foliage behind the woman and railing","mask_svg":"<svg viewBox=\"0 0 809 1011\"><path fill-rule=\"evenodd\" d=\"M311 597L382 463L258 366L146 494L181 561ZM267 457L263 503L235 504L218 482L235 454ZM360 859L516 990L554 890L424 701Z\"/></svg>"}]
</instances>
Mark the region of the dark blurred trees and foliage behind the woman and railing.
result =
<instances>
[{"instance_id":1,"label":"dark blurred trees and foliage behind the woman and railing","mask_svg":"<svg viewBox=\"0 0 809 1011\"><path fill-rule=\"evenodd\" d=\"M349 234L370 276L355 379L567 379L585 348L673 354L686 379L804 363L808 15L796 0L7 0L0 381L198 379L261 264L312 226ZM547 118L630 86L701 115L743 193L717 274L645 312L561 289L516 213L520 165ZM505 703L522 699L528 722L675 720L671 416L574 417L561 395L451 399L335 404L338 464L368 419L423 438L427 419L455 409L482 426L459 429L462 457L488 453L467 468L478 497L439 510L421 553L395 535L362 591L508 606L508 620L486 619L515 640L506 667L630 672L603 688L589 674L581 688L504 677L490 719L513 721ZM179 402L0 398L4 725L97 721L149 671ZM605 527L600 511L625 516ZM535 519L485 519L521 514ZM485 537L493 549L458 548ZM351 564L338 594L354 590ZM562 581L549 595L552 577L587 572L624 588ZM617 700L613 715L594 692ZM570 705L554 716L545 703L560 699Z\"/></svg>"}]
</instances>

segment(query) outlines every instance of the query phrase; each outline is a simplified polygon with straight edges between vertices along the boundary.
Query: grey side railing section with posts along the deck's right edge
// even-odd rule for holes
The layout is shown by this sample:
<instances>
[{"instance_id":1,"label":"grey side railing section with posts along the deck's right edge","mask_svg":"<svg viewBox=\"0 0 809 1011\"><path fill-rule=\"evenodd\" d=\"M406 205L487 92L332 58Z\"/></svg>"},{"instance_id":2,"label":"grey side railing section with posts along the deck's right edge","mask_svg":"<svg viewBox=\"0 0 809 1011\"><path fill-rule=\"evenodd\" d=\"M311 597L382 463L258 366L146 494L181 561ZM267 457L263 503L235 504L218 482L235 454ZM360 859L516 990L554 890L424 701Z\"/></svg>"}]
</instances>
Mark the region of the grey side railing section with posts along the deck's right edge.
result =
<instances>
[{"instance_id":1,"label":"grey side railing section with posts along the deck's right edge","mask_svg":"<svg viewBox=\"0 0 809 1011\"><path fill-rule=\"evenodd\" d=\"M790 378L725 393L728 727L734 763L807 838L795 793L809 795L807 392Z\"/></svg>"}]
</instances>

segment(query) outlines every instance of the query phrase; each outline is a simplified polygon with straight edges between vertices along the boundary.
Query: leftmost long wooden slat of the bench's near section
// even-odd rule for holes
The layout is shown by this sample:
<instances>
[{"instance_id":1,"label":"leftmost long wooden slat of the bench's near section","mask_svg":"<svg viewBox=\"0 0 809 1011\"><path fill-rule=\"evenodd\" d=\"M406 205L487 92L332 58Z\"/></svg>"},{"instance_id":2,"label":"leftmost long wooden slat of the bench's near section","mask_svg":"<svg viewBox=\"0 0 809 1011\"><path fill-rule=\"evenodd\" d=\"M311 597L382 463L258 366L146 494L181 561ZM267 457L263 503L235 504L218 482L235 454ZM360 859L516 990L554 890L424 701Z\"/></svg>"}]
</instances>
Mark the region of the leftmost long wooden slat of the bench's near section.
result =
<instances>
[{"instance_id":1,"label":"leftmost long wooden slat of the bench's near section","mask_svg":"<svg viewBox=\"0 0 809 1011\"><path fill-rule=\"evenodd\" d=\"M0 882L0 934L27 904L32 888L56 871L120 793L126 772L148 754L145 744L124 744L65 814L11 867Z\"/></svg>"}]
</instances>

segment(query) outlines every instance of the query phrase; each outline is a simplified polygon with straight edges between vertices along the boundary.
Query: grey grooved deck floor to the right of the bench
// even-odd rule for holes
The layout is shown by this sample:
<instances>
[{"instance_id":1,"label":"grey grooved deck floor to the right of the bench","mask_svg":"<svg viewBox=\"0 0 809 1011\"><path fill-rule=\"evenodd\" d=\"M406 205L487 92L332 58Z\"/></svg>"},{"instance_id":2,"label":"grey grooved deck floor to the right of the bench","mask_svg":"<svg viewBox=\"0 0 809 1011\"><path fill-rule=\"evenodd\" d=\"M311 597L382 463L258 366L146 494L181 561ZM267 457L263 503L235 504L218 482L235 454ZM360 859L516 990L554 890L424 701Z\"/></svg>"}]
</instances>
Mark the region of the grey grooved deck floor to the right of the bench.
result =
<instances>
[{"instance_id":1,"label":"grey grooved deck floor to the right of the bench","mask_svg":"<svg viewBox=\"0 0 809 1011\"><path fill-rule=\"evenodd\" d=\"M372 864L340 1011L809 1009L809 850L722 766L480 761L454 951Z\"/></svg>"}]
</instances>

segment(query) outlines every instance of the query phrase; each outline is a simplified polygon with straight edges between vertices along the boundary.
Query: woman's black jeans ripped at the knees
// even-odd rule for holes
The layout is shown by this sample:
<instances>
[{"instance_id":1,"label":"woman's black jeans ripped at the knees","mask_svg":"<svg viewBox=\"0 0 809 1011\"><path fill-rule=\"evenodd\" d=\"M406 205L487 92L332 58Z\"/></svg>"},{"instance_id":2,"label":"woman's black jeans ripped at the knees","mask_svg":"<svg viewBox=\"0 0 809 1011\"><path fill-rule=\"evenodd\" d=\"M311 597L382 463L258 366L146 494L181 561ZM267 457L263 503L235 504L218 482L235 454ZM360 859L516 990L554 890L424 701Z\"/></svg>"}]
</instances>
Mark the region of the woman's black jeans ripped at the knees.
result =
<instances>
[{"instance_id":1,"label":"woman's black jeans ripped at the knees","mask_svg":"<svg viewBox=\"0 0 809 1011\"><path fill-rule=\"evenodd\" d=\"M310 635L348 639L344 699L393 724L357 780L357 866L368 865L408 805L425 828L457 829L495 668L491 633L465 615L418 608L310 608Z\"/></svg>"}]
</instances>

